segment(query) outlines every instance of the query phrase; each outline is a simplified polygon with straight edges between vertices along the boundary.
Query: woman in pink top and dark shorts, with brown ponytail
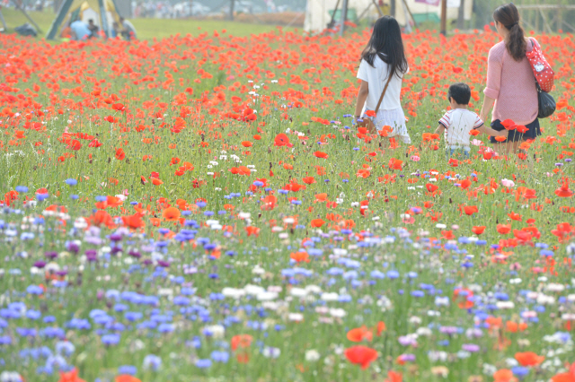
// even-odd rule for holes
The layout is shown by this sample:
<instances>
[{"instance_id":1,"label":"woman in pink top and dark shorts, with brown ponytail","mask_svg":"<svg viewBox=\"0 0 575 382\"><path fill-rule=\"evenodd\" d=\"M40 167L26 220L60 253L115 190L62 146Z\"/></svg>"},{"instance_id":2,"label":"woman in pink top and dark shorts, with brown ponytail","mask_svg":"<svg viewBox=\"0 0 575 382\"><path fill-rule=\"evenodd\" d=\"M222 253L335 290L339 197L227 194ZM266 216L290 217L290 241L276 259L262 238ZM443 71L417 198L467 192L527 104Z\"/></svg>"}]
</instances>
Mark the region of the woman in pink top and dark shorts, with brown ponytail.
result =
<instances>
[{"instance_id":1,"label":"woman in pink top and dark shorts, with brown ponytail","mask_svg":"<svg viewBox=\"0 0 575 382\"><path fill-rule=\"evenodd\" d=\"M506 152L517 152L521 141L535 140L537 135L541 135L535 75L526 58L526 52L531 51L534 44L539 44L535 39L526 39L514 4L501 5L493 13L493 19L504 40L489 51L487 86L483 91L485 98L480 117L486 121L493 109L491 127L497 131L503 130L501 122L506 119L526 126L525 133L517 129L509 131L508 139L503 143L491 137L491 143L504 145Z\"/></svg>"}]
</instances>

